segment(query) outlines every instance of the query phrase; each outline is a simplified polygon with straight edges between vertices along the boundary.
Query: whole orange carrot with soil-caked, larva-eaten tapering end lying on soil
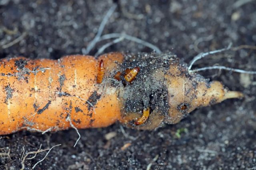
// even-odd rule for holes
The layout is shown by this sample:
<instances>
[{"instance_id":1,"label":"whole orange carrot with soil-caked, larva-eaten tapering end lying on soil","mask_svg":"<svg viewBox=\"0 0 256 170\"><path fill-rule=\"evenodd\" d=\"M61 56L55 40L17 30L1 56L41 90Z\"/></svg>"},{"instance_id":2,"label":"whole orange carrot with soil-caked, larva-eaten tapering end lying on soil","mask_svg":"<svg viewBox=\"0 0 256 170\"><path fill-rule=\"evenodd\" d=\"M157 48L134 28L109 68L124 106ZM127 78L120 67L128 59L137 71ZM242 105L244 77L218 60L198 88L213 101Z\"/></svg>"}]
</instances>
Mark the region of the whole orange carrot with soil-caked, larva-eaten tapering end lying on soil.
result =
<instances>
[{"instance_id":1,"label":"whole orange carrot with soil-caked, larva-eaten tapering end lying on soil","mask_svg":"<svg viewBox=\"0 0 256 170\"><path fill-rule=\"evenodd\" d=\"M101 60L104 77L98 84ZM121 73L136 67L140 68L136 79L125 83L126 74ZM122 81L114 78L117 73ZM107 127L116 121L136 129L155 129L162 123L178 123L197 107L243 97L218 81L189 73L187 65L171 53L2 59L0 82L0 135L22 129ZM145 108L148 112L142 115Z\"/></svg>"}]
</instances>

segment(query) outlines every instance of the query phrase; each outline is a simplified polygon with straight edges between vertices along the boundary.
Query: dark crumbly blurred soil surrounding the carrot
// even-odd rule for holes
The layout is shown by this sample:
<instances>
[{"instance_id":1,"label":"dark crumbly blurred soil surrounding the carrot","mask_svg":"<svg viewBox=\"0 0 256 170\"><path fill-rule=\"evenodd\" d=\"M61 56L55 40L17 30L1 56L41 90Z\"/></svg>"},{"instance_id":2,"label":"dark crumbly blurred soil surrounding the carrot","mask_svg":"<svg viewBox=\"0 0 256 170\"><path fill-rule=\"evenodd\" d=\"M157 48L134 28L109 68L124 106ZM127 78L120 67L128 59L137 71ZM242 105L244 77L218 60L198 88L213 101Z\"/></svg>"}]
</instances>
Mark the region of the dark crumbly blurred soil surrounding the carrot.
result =
<instances>
[{"instance_id":1,"label":"dark crumbly blurred soil surrounding the carrot","mask_svg":"<svg viewBox=\"0 0 256 170\"><path fill-rule=\"evenodd\" d=\"M244 3L244 4L243 4ZM256 45L255 0L0 0L0 57L59 59L82 54L113 4L114 14L103 35L122 33L171 51L189 63L200 52L240 45ZM21 41L6 44L22 36ZM90 55L102 45L97 43ZM110 51L151 52L124 40ZM256 50L233 49L210 56L194 67L220 64L256 70ZM244 92L242 100L193 111L176 125L155 131L136 131L118 123L102 129L74 129L56 133L20 131L0 137L0 169L20 169L25 154L55 147L36 169L256 169L256 76L210 70L200 74ZM30 169L44 158L41 152L25 161ZM32 155L30 155L32 156Z\"/></svg>"}]
</instances>

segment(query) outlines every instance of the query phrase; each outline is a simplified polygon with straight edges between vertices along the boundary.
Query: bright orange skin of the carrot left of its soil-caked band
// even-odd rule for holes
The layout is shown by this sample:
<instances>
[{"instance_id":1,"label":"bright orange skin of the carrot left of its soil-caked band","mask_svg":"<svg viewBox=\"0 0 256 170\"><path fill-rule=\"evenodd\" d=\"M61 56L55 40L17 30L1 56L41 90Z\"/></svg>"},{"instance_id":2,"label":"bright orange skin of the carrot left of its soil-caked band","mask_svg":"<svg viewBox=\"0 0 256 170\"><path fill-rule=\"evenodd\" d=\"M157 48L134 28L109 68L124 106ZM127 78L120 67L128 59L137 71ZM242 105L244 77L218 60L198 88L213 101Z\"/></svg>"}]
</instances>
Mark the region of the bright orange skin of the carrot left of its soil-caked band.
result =
<instances>
[{"instance_id":1,"label":"bright orange skin of the carrot left of its soil-caked band","mask_svg":"<svg viewBox=\"0 0 256 170\"><path fill-rule=\"evenodd\" d=\"M110 53L111 57L119 55ZM18 65L19 60L26 64ZM0 135L20 129L68 129L67 117L77 128L116 122L120 102L116 90L103 94L103 86L96 84L97 65L94 57L81 55L58 61L2 59L0 72L6 74L1 76Z\"/></svg>"}]
</instances>

